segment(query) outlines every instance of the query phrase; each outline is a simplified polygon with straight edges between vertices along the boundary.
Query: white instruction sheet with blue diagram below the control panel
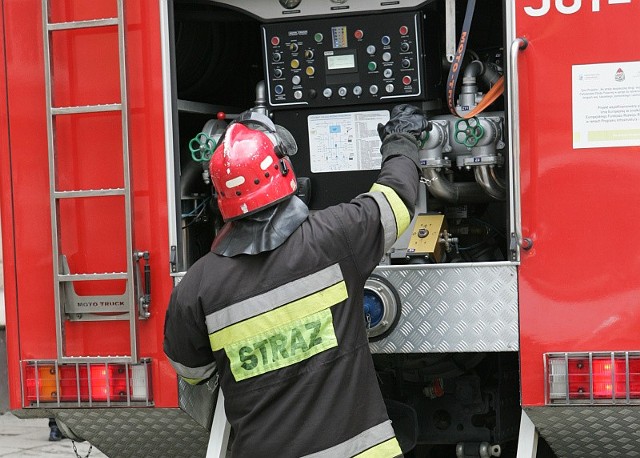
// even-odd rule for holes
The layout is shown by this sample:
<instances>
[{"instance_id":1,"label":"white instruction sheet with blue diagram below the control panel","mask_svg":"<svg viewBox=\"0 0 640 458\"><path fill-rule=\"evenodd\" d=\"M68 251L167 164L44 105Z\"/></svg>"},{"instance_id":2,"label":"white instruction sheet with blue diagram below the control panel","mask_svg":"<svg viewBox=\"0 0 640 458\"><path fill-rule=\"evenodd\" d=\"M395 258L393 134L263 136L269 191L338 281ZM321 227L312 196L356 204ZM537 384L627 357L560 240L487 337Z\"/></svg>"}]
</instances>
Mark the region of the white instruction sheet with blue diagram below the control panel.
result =
<instances>
[{"instance_id":1,"label":"white instruction sheet with blue diagram below the control panel","mask_svg":"<svg viewBox=\"0 0 640 458\"><path fill-rule=\"evenodd\" d=\"M380 169L378 124L388 120L387 110L309 116L311 172Z\"/></svg>"}]
</instances>

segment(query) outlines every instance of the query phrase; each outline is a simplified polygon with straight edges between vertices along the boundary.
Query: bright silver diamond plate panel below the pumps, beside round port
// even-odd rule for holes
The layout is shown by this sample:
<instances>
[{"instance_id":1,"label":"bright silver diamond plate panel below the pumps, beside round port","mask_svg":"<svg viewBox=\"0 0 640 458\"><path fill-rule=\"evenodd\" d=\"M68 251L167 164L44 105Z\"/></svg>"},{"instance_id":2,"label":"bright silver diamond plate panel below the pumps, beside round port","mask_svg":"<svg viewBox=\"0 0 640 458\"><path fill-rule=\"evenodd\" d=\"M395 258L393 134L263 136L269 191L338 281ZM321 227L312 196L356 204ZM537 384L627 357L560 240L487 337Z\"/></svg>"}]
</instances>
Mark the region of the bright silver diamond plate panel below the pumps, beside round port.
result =
<instances>
[{"instance_id":1,"label":"bright silver diamond plate panel below the pumps, beside round port","mask_svg":"<svg viewBox=\"0 0 640 458\"><path fill-rule=\"evenodd\" d=\"M373 353L518 350L514 264L381 266L374 274L398 290L402 314L370 344Z\"/></svg>"}]
</instances>

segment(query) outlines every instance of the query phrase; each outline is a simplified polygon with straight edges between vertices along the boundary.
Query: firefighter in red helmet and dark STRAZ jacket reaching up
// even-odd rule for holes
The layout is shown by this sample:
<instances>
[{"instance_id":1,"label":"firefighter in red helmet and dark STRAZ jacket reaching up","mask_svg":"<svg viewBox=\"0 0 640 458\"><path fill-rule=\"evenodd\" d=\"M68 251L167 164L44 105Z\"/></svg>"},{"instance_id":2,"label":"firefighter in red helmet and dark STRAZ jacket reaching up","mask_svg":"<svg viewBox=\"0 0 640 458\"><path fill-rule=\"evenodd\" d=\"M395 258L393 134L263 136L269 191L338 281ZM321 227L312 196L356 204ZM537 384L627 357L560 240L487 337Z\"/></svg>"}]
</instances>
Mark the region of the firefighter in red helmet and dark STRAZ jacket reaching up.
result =
<instances>
[{"instance_id":1,"label":"firefighter in red helmet and dark STRAZ jacket reaching up","mask_svg":"<svg viewBox=\"0 0 640 458\"><path fill-rule=\"evenodd\" d=\"M363 287L409 225L427 127L394 107L371 191L311 215L290 134L254 112L226 129L209 167L225 225L172 293L164 351L189 383L218 371L234 458L401 456Z\"/></svg>"}]
</instances>

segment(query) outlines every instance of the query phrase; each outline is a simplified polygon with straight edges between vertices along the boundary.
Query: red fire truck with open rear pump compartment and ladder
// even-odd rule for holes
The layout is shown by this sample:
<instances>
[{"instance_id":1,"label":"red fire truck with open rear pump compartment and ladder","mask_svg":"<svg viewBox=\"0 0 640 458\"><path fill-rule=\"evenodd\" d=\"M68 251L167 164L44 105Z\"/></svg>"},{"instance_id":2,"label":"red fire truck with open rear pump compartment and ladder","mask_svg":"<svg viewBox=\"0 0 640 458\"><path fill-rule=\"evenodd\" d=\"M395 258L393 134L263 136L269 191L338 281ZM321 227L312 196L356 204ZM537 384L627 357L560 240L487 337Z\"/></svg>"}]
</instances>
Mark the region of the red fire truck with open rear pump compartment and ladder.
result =
<instances>
[{"instance_id":1,"label":"red fire truck with open rear pump compartment and ladder","mask_svg":"<svg viewBox=\"0 0 640 458\"><path fill-rule=\"evenodd\" d=\"M222 225L225 126L290 131L314 211L367 192L376 126L410 103L416 215L363 310L406 456L640 456L640 1L0 4L17 416L108 456L204 456L217 381L176 377L163 326Z\"/></svg>"}]
</instances>

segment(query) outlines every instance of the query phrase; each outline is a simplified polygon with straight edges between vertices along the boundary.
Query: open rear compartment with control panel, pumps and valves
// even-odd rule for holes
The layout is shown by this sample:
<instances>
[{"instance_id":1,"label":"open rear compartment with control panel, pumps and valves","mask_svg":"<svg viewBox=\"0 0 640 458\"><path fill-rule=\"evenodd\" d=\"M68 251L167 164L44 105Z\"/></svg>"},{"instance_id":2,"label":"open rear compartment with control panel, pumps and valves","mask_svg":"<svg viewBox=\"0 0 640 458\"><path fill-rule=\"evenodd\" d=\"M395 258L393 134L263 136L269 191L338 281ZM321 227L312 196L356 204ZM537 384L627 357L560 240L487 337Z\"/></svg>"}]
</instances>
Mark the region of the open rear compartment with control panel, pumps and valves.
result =
<instances>
[{"instance_id":1,"label":"open rear compartment with control panel, pumps and valves","mask_svg":"<svg viewBox=\"0 0 640 458\"><path fill-rule=\"evenodd\" d=\"M378 124L399 103L422 108L431 130L416 215L365 286L370 347L390 406L416 412L407 456L485 456L477 453L501 446L513 456L513 183L504 95L485 99L506 73L503 5L477 7L464 59L455 54L465 1L345 5L174 3L174 271L206 254L222 227L207 159L237 114L257 110L292 133L301 198L317 211L367 192L380 169ZM451 62L458 113L486 105L469 119L448 109Z\"/></svg>"}]
</instances>

